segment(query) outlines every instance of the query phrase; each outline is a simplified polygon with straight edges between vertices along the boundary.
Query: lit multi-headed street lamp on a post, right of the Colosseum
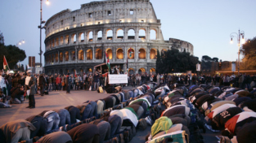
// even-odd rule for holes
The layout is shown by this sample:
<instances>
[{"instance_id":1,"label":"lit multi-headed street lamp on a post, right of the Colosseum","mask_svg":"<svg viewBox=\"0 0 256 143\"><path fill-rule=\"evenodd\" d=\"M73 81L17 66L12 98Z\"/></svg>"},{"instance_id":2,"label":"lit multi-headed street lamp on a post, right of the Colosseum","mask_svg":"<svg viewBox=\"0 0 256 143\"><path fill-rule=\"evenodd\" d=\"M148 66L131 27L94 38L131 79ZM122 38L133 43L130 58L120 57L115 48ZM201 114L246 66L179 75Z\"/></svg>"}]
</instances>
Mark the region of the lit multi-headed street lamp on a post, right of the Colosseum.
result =
<instances>
[{"instance_id":1,"label":"lit multi-headed street lamp on a post, right of the Colosseum","mask_svg":"<svg viewBox=\"0 0 256 143\"><path fill-rule=\"evenodd\" d=\"M237 38L237 43L238 43L237 74L239 75L239 67L240 67L240 37L242 37L241 44L245 44L245 32L244 31L240 31L240 29L239 29L238 30L238 34L236 32L232 32L230 34L230 37L231 37L231 44L233 43L233 37Z\"/></svg>"}]
</instances>

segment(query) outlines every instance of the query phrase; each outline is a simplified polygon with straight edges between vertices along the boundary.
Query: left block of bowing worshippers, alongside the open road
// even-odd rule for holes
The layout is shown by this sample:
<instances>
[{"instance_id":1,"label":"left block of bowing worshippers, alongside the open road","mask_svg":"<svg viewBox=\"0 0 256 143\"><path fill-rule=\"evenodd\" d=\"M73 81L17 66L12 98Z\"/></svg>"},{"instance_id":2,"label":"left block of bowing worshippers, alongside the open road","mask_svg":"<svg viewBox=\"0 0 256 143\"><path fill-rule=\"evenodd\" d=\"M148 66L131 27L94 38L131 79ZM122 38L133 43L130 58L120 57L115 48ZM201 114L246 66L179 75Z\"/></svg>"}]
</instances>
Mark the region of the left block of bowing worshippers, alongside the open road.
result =
<instances>
[{"instance_id":1,"label":"left block of bowing worshippers, alongside the open road","mask_svg":"<svg viewBox=\"0 0 256 143\"><path fill-rule=\"evenodd\" d=\"M159 117L156 84L3 124L0 142L128 142Z\"/></svg>"}]
</instances>

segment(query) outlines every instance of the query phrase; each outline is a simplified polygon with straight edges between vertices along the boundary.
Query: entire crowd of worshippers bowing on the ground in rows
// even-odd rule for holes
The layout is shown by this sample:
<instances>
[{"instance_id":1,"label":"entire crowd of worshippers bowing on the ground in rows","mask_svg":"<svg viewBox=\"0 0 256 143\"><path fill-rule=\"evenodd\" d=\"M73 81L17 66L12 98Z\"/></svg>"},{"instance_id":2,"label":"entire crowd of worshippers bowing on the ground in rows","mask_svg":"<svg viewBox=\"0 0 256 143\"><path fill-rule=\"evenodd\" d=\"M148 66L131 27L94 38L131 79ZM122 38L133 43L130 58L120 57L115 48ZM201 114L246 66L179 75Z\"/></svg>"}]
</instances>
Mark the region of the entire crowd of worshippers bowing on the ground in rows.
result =
<instances>
[{"instance_id":1,"label":"entire crowd of worshippers bowing on the ground in rows","mask_svg":"<svg viewBox=\"0 0 256 143\"><path fill-rule=\"evenodd\" d=\"M97 101L3 124L0 142L123 143L147 126L148 143L204 142L204 126L222 132L223 143L255 141L256 89L150 83L118 90Z\"/></svg>"}]
</instances>

